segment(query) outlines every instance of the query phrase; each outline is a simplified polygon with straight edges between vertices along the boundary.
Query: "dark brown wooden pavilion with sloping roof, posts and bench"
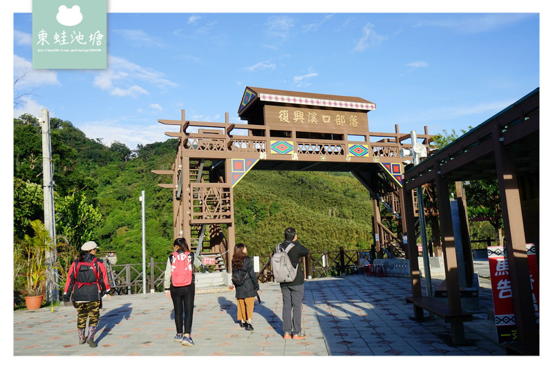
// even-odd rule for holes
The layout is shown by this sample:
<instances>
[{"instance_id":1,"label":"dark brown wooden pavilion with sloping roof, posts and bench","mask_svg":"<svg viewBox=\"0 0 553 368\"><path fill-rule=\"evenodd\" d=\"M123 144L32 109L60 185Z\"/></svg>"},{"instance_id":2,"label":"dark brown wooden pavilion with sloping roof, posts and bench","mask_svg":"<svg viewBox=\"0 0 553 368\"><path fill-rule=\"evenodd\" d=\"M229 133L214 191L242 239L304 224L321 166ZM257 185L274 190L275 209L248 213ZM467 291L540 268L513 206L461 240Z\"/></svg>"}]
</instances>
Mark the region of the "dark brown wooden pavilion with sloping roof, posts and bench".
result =
<instances>
[{"instance_id":1,"label":"dark brown wooden pavilion with sloping roof, posts and bench","mask_svg":"<svg viewBox=\"0 0 553 368\"><path fill-rule=\"evenodd\" d=\"M422 296L411 191L433 184L436 188L443 256L446 271L447 306L454 342L463 342L458 264L450 215L448 184L467 180L497 179L505 226L505 248L518 345L507 345L521 354L537 354L539 315L529 278L527 244L539 257L539 88L490 117L448 146L433 153L404 175L403 195L407 218L411 284L415 316L422 309L440 308ZM470 255L470 253L469 253ZM465 258L467 259L467 258ZM469 258L471 260L471 258ZM539 258L538 258L539 260ZM467 266L467 265L465 265ZM468 265L471 267L471 262ZM536 293L537 294L537 293ZM443 304L443 303L442 303ZM497 318L497 317L496 317ZM518 347L515 347L518 346Z\"/></svg>"}]
</instances>

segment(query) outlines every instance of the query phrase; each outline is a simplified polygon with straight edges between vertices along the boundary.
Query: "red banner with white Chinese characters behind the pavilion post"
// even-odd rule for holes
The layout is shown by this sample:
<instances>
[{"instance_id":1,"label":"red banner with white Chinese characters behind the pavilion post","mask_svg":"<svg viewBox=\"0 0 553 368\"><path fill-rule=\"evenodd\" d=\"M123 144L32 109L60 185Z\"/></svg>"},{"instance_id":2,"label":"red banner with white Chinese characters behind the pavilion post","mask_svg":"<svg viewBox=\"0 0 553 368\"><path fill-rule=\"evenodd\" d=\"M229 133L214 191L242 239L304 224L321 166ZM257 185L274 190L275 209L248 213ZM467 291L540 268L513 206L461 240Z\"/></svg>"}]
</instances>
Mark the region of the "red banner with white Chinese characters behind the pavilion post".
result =
<instances>
[{"instance_id":1,"label":"red banner with white Chinese characters behind the pavilion post","mask_svg":"<svg viewBox=\"0 0 553 368\"><path fill-rule=\"evenodd\" d=\"M509 263L505 246L488 246L489 273L491 289L494 297L494 313L498 342L516 341L516 320L513 309L511 279L509 278ZM536 246L526 244L530 285L536 323L539 324L539 280Z\"/></svg>"}]
</instances>

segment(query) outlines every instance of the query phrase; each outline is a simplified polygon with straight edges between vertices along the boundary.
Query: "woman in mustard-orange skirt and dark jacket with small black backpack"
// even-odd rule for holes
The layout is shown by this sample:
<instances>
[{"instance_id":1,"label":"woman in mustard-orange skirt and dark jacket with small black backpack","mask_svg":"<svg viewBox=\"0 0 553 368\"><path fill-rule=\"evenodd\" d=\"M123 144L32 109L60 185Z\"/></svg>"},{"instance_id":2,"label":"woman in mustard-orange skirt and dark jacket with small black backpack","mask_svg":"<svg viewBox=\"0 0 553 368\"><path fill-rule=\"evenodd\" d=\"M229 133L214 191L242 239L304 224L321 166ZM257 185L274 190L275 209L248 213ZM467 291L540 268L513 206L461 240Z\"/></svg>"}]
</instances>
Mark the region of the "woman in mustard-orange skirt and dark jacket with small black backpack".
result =
<instances>
[{"instance_id":1,"label":"woman in mustard-orange skirt and dark jacket with small black backpack","mask_svg":"<svg viewBox=\"0 0 553 368\"><path fill-rule=\"evenodd\" d=\"M232 255L232 283L236 289L238 323L246 331L254 331L252 318L254 316L254 300L259 290L259 282L257 282L252 258L247 256L247 247L243 243L238 243L234 246L234 255Z\"/></svg>"}]
</instances>

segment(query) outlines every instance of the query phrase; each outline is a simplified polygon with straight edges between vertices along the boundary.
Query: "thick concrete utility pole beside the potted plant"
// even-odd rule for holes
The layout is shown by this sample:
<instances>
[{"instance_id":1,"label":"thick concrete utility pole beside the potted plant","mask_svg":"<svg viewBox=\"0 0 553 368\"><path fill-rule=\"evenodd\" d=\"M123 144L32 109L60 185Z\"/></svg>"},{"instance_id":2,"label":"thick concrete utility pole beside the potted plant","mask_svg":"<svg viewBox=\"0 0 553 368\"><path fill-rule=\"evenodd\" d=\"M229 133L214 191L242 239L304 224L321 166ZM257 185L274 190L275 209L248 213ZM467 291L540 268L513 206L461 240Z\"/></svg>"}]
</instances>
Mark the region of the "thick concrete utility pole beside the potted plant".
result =
<instances>
[{"instance_id":1,"label":"thick concrete utility pole beside the potted plant","mask_svg":"<svg viewBox=\"0 0 553 368\"><path fill-rule=\"evenodd\" d=\"M40 127L42 135L42 177L44 188L44 226L50 235L50 246L46 249L46 301L57 302L57 271L54 264L57 260L56 224L54 212L54 180L52 165L52 143L50 142L50 115L46 108L41 111Z\"/></svg>"}]
</instances>

